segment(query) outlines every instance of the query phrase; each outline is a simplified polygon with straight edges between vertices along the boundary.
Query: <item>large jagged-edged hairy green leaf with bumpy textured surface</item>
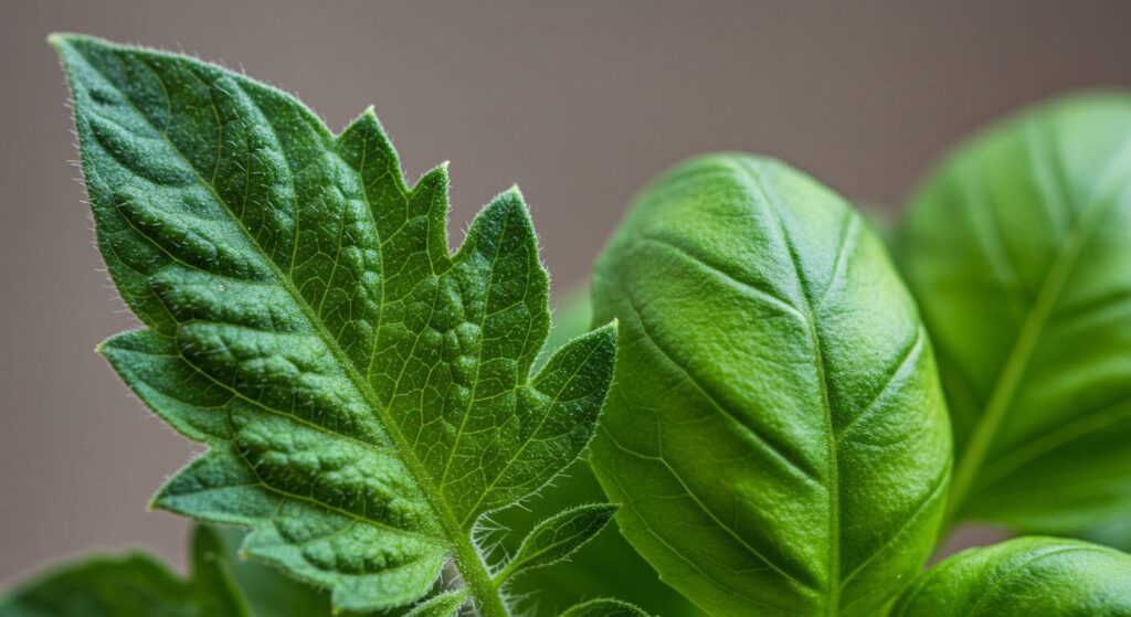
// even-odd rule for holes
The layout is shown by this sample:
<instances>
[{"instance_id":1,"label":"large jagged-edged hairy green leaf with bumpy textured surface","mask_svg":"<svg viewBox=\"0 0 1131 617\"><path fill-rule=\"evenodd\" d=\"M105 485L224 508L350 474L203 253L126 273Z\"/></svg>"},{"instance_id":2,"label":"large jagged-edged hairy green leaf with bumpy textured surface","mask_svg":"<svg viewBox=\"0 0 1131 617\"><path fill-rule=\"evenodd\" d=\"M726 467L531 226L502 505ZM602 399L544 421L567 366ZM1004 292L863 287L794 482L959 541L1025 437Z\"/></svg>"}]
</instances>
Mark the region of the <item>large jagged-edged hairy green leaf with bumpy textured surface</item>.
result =
<instances>
[{"instance_id":1,"label":"large jagged-edged hairy green leaf with bumpy textured surface","mask_svg":"<svg viewBox=\"0 0 1131 617\"><path fill-rule=\"evenodd\" d=\"M454 558L507 614L478 518L585 447L615 330L530 376L547 278L517 190L456 254L446 166L412 189L372 111L339 136L184 57L54 36L98 245L146 329L101 351L209 452L158 507L252 528L244 549L338 609L415 601Z\"/></svg>"}]
</instances>

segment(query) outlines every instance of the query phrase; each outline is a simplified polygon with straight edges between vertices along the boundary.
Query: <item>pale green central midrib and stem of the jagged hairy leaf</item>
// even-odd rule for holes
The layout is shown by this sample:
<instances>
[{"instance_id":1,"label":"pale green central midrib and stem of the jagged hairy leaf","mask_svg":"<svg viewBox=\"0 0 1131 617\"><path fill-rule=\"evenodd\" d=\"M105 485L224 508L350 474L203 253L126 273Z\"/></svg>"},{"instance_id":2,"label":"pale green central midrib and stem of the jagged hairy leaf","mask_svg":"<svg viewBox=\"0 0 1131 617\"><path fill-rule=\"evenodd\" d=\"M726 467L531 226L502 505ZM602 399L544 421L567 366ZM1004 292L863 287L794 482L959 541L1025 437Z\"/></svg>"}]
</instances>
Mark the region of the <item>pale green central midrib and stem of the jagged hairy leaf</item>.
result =
<instances>
[{"instance_id":1,"label":"pale green central midrib and stem of the jagged hairy leaf","mask_svg":"<svg viewBox=\"0 0 1131 617\"><path fill-rule=\"evenodd\" d=\"M180 158L181 162L185 166L188 166L189 170L192 170L192 173L196 176L197 181L201 185L206 186L208 189L208 192L211 193L213 198L216 200L216 202L224 208L224 211L227 212L228 217L231 217L235 227L243 235L244 240L251 246L254 246L259 251L259 253L266 258L264 261L266 262L267 268L279 281L279 285L287 292L287 294L291 295L291 297L294 299L299 308L303 312L303 315L310 322L311 327L316 330L319 338L321 338L322 341L326 344L327 349L334 356L335 362L342 367L342 370L346 373L349 381L353 383L354 388L362 396L366 407L369 407L370 410L373 411L373 414L381 422L381 425L385 426L386 432L388 433L390 440L394 442L397 451L400 453L399 459L405 463L405 467L413 476L414 483L420 487L429 487L431 489L431 490L421 490L421 493L424 495L424 498L428 499L429 505L432 506L432 511L437 513L437 518L440 520L441 527L443 528L448 541L450 541L456 548L457 559L460 565L459 571L464 575L464 580L467 583L467 585L472 589L475 599L478 600L478 602L476 602L476 608L480 609L480 611L482 612L482 615L484 615L484 617L509 617L510 611L507 609L507 606L499 597L491 573L487 571L486 565L483 563L478 549L476 549L476 547L472 544L470 537L467 533L464 533L463 529L456 521L456 516L448 509L447 504L444 504L441 499L437 498L438 488L432 485L430 476L425 471L423 463L421 463L420 460L416 458L415 452L408 445L404 435L402 435L399 427L388 416L385 406L380 405L380 400L378 399L377 393L373 392L372 386L369 384L369 382L361 379L361 374L357 372L353 363L348 360L345 353L338 346L337 340L335 340L330 336L330 333L326 330L326 327L321 323L320 319L314 313L313 307L311 307L307 303L307 301L302 297L302 295L299 294L299 290L295 288L291 279L284 276L278 264L276 264L275 261L268 257L267 252L256 240L254 235L251 234L250 229L248 229L243 225L243 221L235 216L234 210L232 210L227 201L225 201L219 195L219 193L216 191L216 188L211 183L205 181L204 176L200 175L200 171L197 170L197 167L192 164L191 160L189 160L189 158L184 155L184 153L182 153L180 148L178 148L176 145L173 144L173 141L169 138L169 134L165 133L163 130L158 129L157 125L153 122L153 120L150 120L148 115L143 113L141 110L137 106L137 104L133 103L133 99L130 98L129 94L122 88L120 88L118 84L110 78L109 75L106 75L94 62L92 62L78 47L72 46L71 49L78 57L83 59L83 61L86 63L87 67L89 67L92 70L102 76L103 80L106 84L111 85L115 90L118 90L118 93L122 97L122 101L129 104L129 106L133 108L133 112L139 118L141 118L154 132L161 136L162 140L165 141L170 150L172 150L178 156L178 158ZM115 58L118 58L116 53L114 55ZM145 64L145 62L141 63ZM148 67L148 64L145 66ZM161 82L162 86L164 87L163 79L161 80ZM167 90L165 94L167 97L169 96ZM242 88L241 88L241 94L244 94L242 93ZM209 102L211 103L213 108L215 110L215 103L211 102L210 95L211 95L211 85L209 84ZM244 96L247 95L244 94ZM252 105L254 105L253 102ZM170 98L170 108L171 106L172 102ZM254 106L257 110L259 108L258 105ZM78 113L77 105L76 105L76 113ZM331 137L331 139L334 140L333 142L336 144L336 138ZM276 144L279 146L279 149L282 150L282 144L278 144L278 141L276 141ZM336 149L328 148L328 150L334 156L340 157L340 155L337 153ZM290 160L290 157L286 157L286 159ZM346 163L346 166L353 170L353 167L349 166L348 163ZM290 171L290 165L288 165L288 171ZM362 183L359 184L362 185ZM296 192L293 193L295 198L295 207L296 209L300 209L299 194ZM371 217L370 223L375 225L375 221L372 220L371 209L368 210L370 210L370 217ZM297 223L295 223L295 225L297 225ZM330 284L331 281L327 281L327 285Z\"/></svg>"}]
</instances>

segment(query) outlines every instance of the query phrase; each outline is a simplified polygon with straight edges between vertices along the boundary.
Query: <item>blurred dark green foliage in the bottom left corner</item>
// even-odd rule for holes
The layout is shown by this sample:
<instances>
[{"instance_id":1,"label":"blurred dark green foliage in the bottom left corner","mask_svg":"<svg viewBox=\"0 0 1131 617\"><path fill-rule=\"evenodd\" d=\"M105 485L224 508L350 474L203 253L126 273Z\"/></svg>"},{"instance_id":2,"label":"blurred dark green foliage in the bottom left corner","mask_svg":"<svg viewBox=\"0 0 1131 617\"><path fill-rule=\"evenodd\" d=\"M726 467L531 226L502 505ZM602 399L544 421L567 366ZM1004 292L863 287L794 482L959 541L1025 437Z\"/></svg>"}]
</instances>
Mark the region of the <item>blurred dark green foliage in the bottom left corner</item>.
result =
<instances>
[{"instance_id":1,"label":"blurred dark green foliage in the bottom left corner","mask_svg":"<svg viewBox=\"0 0 1131 617\"><path fill-rule=\"evenodd\" d=\"M0 617L250 616L215 531L196 529L191 556L188 579L145 553L64 564L0 599Z\"/></svg>"}]
</instances>

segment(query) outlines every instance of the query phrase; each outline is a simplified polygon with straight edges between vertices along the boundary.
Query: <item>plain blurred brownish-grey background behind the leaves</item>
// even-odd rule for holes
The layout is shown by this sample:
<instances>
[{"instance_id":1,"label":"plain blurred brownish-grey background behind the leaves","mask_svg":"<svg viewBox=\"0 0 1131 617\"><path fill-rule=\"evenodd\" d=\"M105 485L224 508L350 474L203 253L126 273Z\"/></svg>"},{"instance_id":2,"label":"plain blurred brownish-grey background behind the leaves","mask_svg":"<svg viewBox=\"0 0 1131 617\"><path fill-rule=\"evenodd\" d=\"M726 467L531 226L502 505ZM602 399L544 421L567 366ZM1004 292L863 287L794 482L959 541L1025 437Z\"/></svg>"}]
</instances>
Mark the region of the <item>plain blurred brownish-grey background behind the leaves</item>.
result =
<instances>
[{"instance_id":1,"label":"plain blurred brownish-grey background behind the leaves","mask_svg":"<svg viewBox=\"0 0 1131 617\"><path fill-rule=\"evenodd\" d=\"M456 241L523 186L559 290L681 158L766 153L896 209L977 125L1131 84L1131 3L785 5L0 3L0 584L96 546L180 560L185 523L145 505L195 450L92 351L132 320L90 245L49 32L243 68L335 129L374 104L411 180L452 162Z\"/></svg>"}]
</instances>

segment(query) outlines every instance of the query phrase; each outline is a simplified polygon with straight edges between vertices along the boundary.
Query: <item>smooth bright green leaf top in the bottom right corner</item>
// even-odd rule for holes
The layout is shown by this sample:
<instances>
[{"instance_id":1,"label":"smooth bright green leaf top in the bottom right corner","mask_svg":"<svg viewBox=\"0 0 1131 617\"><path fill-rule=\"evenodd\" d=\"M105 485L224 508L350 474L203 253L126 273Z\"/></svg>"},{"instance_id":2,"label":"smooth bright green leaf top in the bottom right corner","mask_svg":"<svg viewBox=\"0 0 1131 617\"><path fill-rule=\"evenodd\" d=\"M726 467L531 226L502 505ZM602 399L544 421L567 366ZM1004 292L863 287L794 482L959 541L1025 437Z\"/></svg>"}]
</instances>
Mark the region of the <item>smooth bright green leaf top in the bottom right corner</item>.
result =
<instances>
[{"instance_id":1,"label":"smooth bright green leaf top in the bottom right corner","mask_svg":"<svg viewBox=\"0 0 1131 617\"><path fill-rule=\"evenodd\" d=\"M1123 617L1131 555L1079 540L1028 537L972 548L932 567L891 617Z\"/></svg>"}]
</instances>

